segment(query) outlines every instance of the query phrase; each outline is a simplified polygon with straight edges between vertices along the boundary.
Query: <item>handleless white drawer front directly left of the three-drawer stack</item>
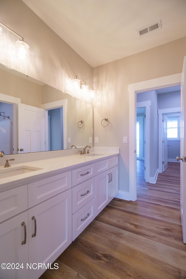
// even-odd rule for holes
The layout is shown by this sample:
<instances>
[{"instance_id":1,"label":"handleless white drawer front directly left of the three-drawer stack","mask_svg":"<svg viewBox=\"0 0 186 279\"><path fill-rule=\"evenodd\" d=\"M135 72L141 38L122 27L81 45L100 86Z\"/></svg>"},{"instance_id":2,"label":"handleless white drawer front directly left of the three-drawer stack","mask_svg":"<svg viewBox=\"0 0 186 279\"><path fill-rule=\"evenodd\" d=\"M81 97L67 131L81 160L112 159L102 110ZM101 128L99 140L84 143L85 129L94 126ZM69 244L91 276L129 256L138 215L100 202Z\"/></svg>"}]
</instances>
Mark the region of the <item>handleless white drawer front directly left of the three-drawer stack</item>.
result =
<instances>
[{"instance_id":1,"label":"handleless white drawer front directly left of the three-drawer stack","mask_svg":"<svg viewBox=\"0 0 186 279\"><path fill-rule=\"evenodd\" d=\"M44 178L28 184L28 207L60 194L71 188L71 171Z\"/></svg>"}]
</instances>

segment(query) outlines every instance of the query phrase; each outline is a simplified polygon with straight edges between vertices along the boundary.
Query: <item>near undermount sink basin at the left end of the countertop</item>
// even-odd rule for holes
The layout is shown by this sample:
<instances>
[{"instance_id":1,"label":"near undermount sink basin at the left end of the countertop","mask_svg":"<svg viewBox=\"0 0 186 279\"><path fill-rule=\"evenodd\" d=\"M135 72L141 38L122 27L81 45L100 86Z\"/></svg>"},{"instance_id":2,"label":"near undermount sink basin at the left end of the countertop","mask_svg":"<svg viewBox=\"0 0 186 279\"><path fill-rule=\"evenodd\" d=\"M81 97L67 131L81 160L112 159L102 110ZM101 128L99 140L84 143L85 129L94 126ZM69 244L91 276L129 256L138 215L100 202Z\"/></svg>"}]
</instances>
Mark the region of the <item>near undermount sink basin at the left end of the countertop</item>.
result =
<instances>
[{"instance_id":1,"label":"near undermount sink basin at the left end of the countertop","mask_svg":"<svg viewBox=\"0 0 186 279\"><path fill-rule=\"evenodd\" d=\"M10 176L15 176L19 174L26 174L27 172L37 171L42 168L20 166L20 167L10 167L0 170L0 178L6 178Z\"/></svg>"}]
</instances>

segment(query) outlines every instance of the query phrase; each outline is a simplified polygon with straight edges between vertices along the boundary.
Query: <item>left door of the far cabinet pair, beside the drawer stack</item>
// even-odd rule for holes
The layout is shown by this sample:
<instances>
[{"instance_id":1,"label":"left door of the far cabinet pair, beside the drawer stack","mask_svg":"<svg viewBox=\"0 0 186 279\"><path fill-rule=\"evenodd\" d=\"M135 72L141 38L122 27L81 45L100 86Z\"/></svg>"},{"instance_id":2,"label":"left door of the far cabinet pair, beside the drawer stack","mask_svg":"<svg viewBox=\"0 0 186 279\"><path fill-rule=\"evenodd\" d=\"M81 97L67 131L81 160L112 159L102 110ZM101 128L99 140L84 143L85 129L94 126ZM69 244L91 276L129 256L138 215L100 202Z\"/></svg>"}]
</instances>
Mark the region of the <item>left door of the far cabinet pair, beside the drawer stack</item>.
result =
<instances>
[{"instance_id":1,"label":"left door of the far cabinet pair, beside the drawer stack","mask_svg":"<svg viewBox=\"0 0 186 279\"><path fill-rule=\"evenodd\" d=\"M95 178L96 186L96 216L101 212L101 210L109 203L108 196L108 180L109 172L105 171L99 174Z\"/></svg>"}]
</instances>

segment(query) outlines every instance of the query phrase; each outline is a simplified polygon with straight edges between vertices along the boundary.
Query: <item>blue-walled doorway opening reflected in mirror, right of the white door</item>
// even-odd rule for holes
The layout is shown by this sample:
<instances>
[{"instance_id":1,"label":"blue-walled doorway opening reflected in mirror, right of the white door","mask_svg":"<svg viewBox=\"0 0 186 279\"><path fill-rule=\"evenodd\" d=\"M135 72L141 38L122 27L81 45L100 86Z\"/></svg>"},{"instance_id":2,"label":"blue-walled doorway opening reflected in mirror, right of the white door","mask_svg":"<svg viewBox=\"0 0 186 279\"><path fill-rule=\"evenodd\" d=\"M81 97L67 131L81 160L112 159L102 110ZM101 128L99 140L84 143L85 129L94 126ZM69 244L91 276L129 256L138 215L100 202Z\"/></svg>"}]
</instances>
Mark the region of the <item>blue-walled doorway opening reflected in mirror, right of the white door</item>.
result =
<instances>
[{"instance_id":1,"label":"blue-walled doorway opening reflected in mirror, right of the white door","mask_svg":"<svg viewBox=\"0 0 186 279\"><path fill-rule=\"evenodd\" d=\"M63 148L63 107L48 110L49 151Z\"/></svg>"}]
</instances>

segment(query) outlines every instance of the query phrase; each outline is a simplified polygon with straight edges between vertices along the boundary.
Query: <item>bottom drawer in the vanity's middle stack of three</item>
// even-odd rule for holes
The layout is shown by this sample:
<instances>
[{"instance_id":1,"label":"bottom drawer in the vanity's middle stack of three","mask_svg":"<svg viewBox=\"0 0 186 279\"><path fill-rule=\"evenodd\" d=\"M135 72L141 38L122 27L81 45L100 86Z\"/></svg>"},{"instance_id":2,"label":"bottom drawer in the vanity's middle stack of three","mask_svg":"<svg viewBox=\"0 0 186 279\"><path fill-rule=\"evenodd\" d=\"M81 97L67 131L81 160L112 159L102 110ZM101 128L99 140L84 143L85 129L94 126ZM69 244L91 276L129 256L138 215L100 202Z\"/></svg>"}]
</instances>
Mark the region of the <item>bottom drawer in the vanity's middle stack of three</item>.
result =
<instances>
[{"instance_id":1,"label":"bottom drawer in the vanity's middle stack of three","mask_svg":"<svg viewBox=\"0 0 186 279\"><path fill-rule=\"evenodd\" d=\"M72 241L94 220L95 198L72 215Z\"/></svg>"}]
</instances>

